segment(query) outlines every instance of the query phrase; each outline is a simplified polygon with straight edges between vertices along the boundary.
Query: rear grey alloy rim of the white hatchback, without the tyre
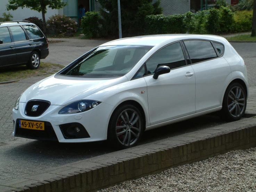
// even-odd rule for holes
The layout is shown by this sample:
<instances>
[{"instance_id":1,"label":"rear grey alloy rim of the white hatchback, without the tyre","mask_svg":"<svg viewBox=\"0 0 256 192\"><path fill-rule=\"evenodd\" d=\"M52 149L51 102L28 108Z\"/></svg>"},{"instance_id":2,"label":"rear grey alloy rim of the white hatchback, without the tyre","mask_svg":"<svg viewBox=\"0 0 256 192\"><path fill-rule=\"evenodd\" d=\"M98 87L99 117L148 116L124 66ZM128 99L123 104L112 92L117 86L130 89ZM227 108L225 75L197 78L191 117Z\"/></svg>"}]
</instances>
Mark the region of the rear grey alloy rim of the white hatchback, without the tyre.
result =
<instances>
[{"instance_id":1,"label":"rear grey alloy rim of the white hatchback, without the tyre","mask_svg":"<svg viewBox=\"0 0 256 192\"><path fill-rule=\"evenodd\" d=\"M240 117L245 110L245 93L236 86L229 91L228 95L228 110L233 117Z\"/></svg>"}]
</instances>

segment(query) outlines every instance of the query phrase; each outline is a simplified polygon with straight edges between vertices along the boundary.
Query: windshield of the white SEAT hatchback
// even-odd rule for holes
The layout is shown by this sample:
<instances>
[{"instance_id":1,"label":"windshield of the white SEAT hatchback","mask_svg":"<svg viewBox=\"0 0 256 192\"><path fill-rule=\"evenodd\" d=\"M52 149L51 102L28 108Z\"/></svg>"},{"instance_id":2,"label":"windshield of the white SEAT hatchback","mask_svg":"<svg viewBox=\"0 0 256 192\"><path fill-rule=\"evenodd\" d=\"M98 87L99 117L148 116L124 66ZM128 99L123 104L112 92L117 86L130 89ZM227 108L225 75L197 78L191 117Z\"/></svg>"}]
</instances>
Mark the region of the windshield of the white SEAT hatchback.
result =
<instances>
[{"instance_id":1,"label":"windshield of the white SEAT hatchback","mask_svg":"<svg viewBox=\"0 0 256 192\"><path fill-rule=\"evenodd\" d=\"M151 49L150 46L104 46L90 53L62 75L84 77L124 76Z\"/></svg>"}]
</instances>

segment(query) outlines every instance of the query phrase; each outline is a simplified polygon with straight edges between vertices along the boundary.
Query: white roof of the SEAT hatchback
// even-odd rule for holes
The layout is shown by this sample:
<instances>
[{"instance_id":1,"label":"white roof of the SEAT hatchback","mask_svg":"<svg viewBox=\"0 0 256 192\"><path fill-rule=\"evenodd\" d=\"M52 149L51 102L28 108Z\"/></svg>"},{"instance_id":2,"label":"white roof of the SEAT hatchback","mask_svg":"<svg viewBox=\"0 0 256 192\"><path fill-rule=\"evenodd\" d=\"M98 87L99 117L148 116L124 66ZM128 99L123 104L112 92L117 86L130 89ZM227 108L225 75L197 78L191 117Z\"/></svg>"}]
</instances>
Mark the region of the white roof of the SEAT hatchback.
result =
<instances>
[{"instance_id":1,"label":"white roof of the SEAT hatchback","mask_svg":"<svg viewBox=\"0 0 256 192\"><path fill-rule=\"evenodd\" d=\"M144 35L137 37L127 37L114 41L104 43L100 46L114 46L114 45L142 45L155 46L164 41L174 42L185 39L203 39L210 41L223 42L224 38L217 35L194 35L194 34L163 34L163 35Z\"/></svg>"}]
</instances>

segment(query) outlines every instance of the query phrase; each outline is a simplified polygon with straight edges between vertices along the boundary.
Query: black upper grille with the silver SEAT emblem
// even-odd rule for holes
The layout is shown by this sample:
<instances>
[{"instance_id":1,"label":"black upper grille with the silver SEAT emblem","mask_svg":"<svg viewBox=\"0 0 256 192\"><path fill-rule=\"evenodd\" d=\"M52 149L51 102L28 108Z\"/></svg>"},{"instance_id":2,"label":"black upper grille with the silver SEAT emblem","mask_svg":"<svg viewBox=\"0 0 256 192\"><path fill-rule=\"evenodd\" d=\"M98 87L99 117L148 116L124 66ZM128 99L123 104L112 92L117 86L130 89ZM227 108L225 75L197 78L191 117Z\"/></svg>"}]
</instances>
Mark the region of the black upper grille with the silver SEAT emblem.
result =
<instances>
[{"instance_id":1,"label":"black upper grille with the silver SEAT emblem","mask_svg":"<svg viewBox=\"0 0 256 192\"><path fill-rule=\"evenodd\" d=\"M38 117L48 109L50 104L49 101L31 100L26 104L25 114L31 117Z\"/></svg>"}]
</instances>

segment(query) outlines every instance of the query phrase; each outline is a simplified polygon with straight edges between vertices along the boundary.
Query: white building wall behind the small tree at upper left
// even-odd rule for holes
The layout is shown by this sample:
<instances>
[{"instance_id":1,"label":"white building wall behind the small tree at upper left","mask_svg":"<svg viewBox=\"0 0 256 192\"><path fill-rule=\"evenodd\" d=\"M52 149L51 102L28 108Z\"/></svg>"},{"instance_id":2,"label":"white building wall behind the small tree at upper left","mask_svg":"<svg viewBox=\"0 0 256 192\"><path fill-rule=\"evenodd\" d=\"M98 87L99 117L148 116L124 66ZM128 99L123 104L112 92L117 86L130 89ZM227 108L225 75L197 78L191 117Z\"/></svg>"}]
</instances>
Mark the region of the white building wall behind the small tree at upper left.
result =
<instances>
[{"instance_id":1,"label":"white building wall behind the small tree at upper left","mask_svg":"<svg viewBox=\"0 0 256 192\"><path fill-rule=\"evenodd\" d=\"M18 8L15 11L6 10L6 5L8 4L8 0L0 0L0 17L2 17L3 12L10 12L11 15L13 15L13 20L23 20L28 17L38 17L39 19L42 19L42 12L37 12L34 10L31 10L30 8ZM63 9L51 9L47 8L47 13L45 15L46 20L49 19L50 16L55 15L55 14L63 14Z\"/></svg>"}]
</instances>

